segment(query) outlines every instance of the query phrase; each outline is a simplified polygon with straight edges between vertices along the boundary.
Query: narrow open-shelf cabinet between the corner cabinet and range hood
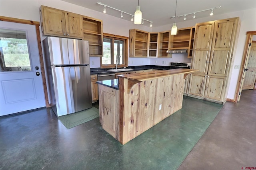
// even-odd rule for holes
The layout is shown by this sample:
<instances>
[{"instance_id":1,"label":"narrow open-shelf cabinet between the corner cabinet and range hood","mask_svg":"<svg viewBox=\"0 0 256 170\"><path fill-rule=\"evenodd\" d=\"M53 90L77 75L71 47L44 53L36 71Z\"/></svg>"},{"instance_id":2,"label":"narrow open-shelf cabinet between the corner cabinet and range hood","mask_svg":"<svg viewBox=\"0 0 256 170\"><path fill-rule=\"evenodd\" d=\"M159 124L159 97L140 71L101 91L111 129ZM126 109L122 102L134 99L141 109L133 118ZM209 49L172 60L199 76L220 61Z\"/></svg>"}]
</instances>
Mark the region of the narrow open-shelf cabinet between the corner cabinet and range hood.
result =
<instances>
[{"instance_id":1,"label":"narrow open-shelf cabinet between the corner cabinet and range hood","mask_svg":"<svg viewBox=\"0 0 256 170\"><path fill-rule=\"evenodd\" d=\"M158 33L158 58L170 58L171 54L166 53L169 48L170 31L163 31Z\"/></svg>"}]
</instances>

